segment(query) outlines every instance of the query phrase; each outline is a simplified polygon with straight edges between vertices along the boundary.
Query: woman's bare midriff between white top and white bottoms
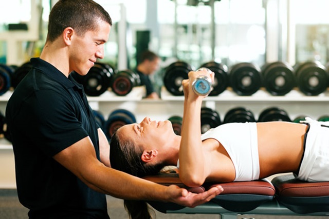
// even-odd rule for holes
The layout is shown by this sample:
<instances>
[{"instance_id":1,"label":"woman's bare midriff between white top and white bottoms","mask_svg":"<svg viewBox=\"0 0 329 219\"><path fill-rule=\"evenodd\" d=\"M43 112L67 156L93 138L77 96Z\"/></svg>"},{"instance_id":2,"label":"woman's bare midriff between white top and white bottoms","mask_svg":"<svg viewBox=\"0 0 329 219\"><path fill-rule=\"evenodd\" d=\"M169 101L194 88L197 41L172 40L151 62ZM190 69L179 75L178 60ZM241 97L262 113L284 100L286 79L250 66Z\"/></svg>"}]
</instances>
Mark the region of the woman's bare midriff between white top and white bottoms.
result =
<instances>
[{"instance_id":1,"label":"woman's bare midriff between white top and white bottoms","mask_svg":"<svg viewBox=\"0 0 329 219\"><path fill-rule=\"evenodd\" d=\"M257 124L260 178L298 170L307 125L287 122Z\"/></svg>"}]
</instances>

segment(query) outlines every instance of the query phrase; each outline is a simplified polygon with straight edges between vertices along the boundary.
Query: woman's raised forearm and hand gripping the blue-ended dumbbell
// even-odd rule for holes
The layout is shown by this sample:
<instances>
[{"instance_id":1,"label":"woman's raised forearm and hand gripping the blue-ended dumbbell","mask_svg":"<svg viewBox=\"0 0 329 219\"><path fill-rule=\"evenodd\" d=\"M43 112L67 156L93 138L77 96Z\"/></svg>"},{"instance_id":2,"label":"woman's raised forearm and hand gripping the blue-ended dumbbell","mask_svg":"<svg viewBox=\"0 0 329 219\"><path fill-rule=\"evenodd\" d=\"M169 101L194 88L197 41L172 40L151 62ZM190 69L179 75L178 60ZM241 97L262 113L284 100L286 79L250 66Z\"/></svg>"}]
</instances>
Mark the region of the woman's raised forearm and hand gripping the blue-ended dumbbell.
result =
<instances>
[{"instance_id":1,"label":"woman's raised forearm and hand gripping the blue-ended dumbbell","mask_svg":"<svg viewBox=\"0 0 329 219\"><path fill-rule=\"evenodd\" d=\"M179 177L190 187L202 185L207 176L200 128L201 106L205 96L199 96L192 90L192 82L199 75L208 76L212 81L214 78L213 72L191 71L189 79L182 82L185 100L179 148Z\"/></svg>"}]
</instances>

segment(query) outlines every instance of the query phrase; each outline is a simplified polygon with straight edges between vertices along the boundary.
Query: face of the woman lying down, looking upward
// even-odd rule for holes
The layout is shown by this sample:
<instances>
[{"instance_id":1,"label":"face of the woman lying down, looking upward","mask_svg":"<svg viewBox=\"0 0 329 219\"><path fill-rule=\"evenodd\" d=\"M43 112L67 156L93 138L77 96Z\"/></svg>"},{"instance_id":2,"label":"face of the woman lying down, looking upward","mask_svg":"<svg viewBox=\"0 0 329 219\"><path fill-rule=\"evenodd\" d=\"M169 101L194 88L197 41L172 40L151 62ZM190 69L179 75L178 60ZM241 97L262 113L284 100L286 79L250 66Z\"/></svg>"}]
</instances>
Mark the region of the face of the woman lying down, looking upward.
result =
<instances>
[{"instance_id":1,"label":"face of the woman lying down, looking upward","mask_svg":"<svg viewBox=\"0 0 329 219\"><path fill-rule=\"evenodd\" d=\"M169 143L175 136L170 121L151 121L145 117L141 123L134 123L122 126L118 129L121 138L130 140L137 146L143 146L144 149L161 148Z\"/></svg>"}]
</instances>

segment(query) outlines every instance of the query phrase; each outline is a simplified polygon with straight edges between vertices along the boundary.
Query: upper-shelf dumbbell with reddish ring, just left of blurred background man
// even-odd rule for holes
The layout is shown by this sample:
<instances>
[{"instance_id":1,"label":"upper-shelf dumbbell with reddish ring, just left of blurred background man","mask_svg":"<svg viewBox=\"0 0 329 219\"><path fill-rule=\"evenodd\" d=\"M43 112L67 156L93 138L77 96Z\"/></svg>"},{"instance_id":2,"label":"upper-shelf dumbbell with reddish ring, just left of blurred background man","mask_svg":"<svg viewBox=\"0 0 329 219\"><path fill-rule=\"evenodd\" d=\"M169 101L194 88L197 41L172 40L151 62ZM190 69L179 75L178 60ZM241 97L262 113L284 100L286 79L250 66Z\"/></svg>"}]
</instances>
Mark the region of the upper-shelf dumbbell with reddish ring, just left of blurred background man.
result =
<instances>
[{"instance_id":1,"label":"upper-shelf dumbbell with reddish ring, just left of blurred background man","mask_svg":"<svg viewBox=\"0 0 329 219\"><path fill-rule=\"evenodd\" d=\"M134 87L140 86L140 83L140 77L136 72L125 69L113 75L111 88L118 96L125 96L129 94Z\"/></svg>"}]
</instances>

